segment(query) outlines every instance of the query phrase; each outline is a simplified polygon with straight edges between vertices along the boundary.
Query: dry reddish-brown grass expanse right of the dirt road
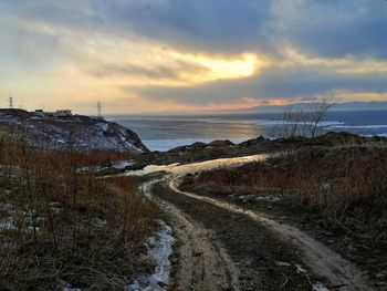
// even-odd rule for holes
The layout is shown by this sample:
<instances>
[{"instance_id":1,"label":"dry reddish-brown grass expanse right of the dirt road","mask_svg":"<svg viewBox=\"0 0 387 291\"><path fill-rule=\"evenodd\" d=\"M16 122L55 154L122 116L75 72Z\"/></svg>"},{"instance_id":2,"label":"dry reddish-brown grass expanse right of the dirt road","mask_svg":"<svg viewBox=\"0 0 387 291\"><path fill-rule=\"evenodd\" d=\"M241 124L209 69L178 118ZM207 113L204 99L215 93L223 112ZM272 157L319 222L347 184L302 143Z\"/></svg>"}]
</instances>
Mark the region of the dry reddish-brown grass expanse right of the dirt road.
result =
<instances>
[{"instance_id":1,"label":"dry reddish-brown grass expanse right of the dirt road","mask_svg":"<svg viewBox=\"0 0 387 291\"><path fill-rule=\"evenodd\" d=\"M373 243L387 242L387 149L315 148L232 170L203 173L196 187L224 194L276 194Z\"/></svg>"}]
</instances>

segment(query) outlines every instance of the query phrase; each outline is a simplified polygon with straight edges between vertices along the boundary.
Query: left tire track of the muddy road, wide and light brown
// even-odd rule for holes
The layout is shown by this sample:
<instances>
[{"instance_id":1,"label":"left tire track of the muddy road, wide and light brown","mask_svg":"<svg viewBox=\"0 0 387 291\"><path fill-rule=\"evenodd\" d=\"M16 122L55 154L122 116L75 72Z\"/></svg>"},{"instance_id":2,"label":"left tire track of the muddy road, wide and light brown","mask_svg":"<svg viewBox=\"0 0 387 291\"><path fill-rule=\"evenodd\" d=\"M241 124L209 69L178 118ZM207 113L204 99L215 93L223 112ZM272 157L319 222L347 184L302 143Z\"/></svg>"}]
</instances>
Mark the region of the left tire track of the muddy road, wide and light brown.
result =
<instances>
[{"instance_id":1,"label":"left tire track of the muddy road, wide and light brown","mask_svg":"<svg viewBox=\"0 0 387 291\"><path fill-rule=\"evenodd\" d=\"M213 233L172 204L151 195L154 185L166 178L144 183L140 191L160 206L179 241L172 290L239 290L238 271L223 248L213 239Z\"/></svg>"}]
</instances>

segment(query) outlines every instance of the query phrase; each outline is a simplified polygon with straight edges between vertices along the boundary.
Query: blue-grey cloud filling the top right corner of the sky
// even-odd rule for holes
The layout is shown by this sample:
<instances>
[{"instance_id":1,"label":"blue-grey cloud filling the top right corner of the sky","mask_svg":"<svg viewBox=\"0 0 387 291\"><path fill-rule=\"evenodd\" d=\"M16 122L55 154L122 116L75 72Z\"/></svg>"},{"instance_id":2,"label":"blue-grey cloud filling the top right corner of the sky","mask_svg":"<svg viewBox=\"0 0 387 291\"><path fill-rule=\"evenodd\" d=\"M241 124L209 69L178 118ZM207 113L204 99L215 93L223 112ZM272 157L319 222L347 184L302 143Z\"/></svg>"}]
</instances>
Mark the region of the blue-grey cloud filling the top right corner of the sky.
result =
<instances>
[{"instance_id":1,"label":"blue-grey cloud filling the top right corner of the sky","mask_svg":"<svg viewBox=\"0 0 387 291\"><path fill-rule=\"evenodd\" d=\"M313 55L387 58L386 1L276 0L271 14L274 43Z\"/></svg>"}]
</instances>

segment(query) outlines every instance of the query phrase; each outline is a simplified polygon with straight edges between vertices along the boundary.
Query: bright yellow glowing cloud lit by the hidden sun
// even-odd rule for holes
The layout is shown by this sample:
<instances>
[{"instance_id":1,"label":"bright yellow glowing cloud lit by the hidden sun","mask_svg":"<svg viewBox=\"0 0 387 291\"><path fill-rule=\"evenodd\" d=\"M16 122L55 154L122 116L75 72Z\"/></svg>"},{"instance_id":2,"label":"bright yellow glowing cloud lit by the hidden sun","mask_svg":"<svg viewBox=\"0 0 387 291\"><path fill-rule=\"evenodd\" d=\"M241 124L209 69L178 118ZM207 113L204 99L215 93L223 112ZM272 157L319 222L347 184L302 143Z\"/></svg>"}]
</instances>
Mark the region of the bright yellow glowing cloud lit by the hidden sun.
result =
<instances>
[{"instance_id":1,"label":"bright yellow glowing cloud lit by the hidden sun","mask_svg":"<svg viewBox=\"0 0 387 291\"><path fill-rule=\"evenodd\" d=\"M232 56L178 51L154 43L112 39L95 40L72 63L80 76L126 86L195 86L259 74L269 61L257 53Z\"/></svg>"}]
</instances>

